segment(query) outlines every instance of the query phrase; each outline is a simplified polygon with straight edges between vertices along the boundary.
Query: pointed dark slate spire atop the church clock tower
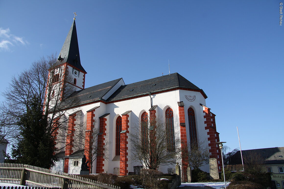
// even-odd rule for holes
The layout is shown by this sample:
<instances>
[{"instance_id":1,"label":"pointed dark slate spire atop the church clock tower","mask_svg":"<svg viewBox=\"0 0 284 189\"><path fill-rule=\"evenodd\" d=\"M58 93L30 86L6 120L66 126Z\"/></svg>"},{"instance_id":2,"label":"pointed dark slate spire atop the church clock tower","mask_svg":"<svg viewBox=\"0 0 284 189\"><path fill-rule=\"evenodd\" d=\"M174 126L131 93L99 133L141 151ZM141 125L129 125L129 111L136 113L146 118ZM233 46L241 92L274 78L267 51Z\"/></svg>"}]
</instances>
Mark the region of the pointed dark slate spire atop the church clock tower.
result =
<instances>
[{"instance_id":1,"label":"pointed dark slate spire atop the church clock tower","mask_svg":"<svg viewBox=\"0 0 284 189\"><path fill-rule=\"evenodd\" d=\"M78 46L78 38L76 31L75 20L69 30L69 33L65 39L63 47L60 51L59 58L60 63L68 62L72 66L82 70L87 73L81 65L80 54L79 54L79 46Z\"/></svg>"}]
</instances>

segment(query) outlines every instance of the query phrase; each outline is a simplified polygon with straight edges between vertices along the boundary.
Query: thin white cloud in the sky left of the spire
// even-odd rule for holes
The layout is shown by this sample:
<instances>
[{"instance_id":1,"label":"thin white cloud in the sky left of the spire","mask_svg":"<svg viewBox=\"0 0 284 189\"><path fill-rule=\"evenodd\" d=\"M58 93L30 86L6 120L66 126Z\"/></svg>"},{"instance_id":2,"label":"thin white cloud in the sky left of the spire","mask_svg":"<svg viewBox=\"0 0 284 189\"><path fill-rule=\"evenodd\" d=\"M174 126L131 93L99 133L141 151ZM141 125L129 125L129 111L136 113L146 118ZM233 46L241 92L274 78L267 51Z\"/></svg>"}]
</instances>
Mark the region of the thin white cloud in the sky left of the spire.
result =
<instances>
[{"instance_id":1,"label":"thin white cloud in the sky left of the spire","mask_svg":"<svg viewBox=\"0 0 284 189\"><path fill-rule=\"evenodd\" d=\"M14 45L26 45L27 41L24 41L22 37L10 34L10 29L0 28L0 51L9 51L11 46Z\"/></svg>"}]
</instances>

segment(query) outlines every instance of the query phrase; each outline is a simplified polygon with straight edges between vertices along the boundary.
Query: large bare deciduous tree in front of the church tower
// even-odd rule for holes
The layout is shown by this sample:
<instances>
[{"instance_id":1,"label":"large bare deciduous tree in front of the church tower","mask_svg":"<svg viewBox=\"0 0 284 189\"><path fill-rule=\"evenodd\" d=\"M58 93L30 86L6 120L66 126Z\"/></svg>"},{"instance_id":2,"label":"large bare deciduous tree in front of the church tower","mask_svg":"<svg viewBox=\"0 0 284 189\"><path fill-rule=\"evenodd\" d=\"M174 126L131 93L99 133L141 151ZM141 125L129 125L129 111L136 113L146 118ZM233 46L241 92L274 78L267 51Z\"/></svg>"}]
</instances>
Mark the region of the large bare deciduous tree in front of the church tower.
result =
<instances>
[{"instance_id":1,"label":"large bare deciduous tree in front of the church tower","mask_svg":"<svg viewBox=\"0 0 284 189\"><path fill-rule=\"evenodd\" d=\"M0 132L6 132L3 135L5 137L12 135L7 140L19 135L19 117L26 113L29 102L36 97L43 105L43 114L48 117L48 134L57 138L57 144L61 143L57 145L60 147L54 150L60 150L68 145L64 140L68 133L68 114L78 110L73 108L78 104L78 97L74 93L75 87L71 84L71 76L65 69L66 66L59 64L56 56L51 55L47 58L42 57L32 63L29 69L12 77L10 86L2 93L5 103L1 107ZM77 124L75 127L81 125Z\"/></svg>"}]
</instances>

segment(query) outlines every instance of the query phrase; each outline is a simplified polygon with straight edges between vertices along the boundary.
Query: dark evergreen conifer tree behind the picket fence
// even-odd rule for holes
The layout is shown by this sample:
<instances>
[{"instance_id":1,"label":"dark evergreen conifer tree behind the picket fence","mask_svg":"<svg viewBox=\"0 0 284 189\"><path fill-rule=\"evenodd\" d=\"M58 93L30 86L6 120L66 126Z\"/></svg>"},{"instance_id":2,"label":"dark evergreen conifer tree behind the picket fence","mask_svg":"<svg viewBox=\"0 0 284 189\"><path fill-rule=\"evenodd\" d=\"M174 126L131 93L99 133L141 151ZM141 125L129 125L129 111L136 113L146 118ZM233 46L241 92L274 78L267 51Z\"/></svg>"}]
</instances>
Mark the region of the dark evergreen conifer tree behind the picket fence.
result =
<instances>
[{"instance_id":1,"label":"dark evergreen conifer tree behind the picket fence","mask_svg":"<svg viewBox=\"0 0 284 189\"><path fill-rule=\"evenodd\" d=\"M12 147L12 157L17 163L50 168L56 161L55 142L47 129L48 120L41 100L34 96L26 109L20 116L20 136Z\"/></svg>"}]
</instances>

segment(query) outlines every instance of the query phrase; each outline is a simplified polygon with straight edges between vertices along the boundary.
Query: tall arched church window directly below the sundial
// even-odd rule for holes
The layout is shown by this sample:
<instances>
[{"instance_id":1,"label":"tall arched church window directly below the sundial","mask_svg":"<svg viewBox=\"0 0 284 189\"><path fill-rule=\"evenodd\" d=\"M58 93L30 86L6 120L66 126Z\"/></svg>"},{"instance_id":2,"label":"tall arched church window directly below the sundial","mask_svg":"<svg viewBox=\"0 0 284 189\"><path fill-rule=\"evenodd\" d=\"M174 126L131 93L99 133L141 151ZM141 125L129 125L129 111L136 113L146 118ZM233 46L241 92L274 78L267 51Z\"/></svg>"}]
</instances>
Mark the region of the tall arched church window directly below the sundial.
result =
<instances>
[{"instance_id":1,"label":"tall arched church window directly below the sundial","mask_svg":"<svg viewBox=\"0 0 284 189\"><path fill-rule=\"evenodd\" d=\"M192 108L188 108L187 115L189 122L190 149L192 150L194 147L198 147L194 110Z\"/></svg>"}]
</instances>

